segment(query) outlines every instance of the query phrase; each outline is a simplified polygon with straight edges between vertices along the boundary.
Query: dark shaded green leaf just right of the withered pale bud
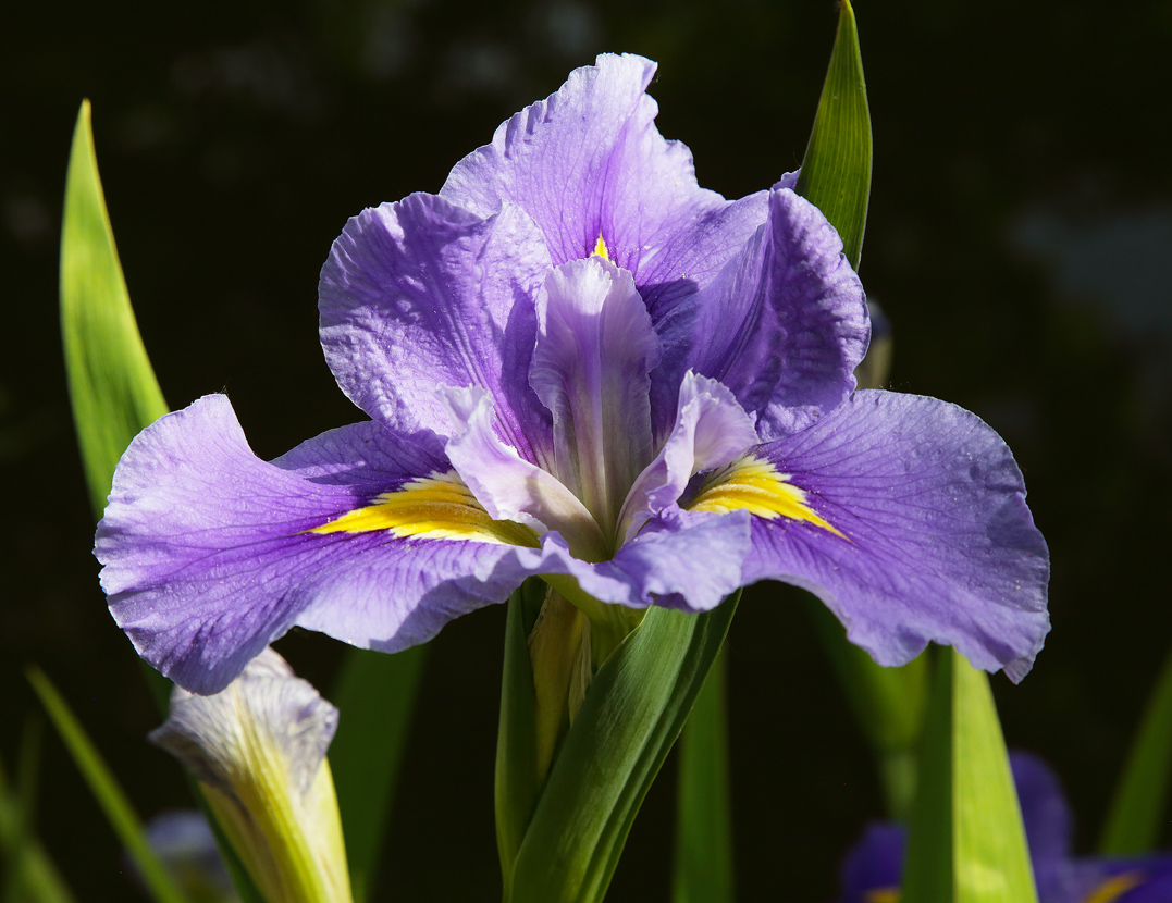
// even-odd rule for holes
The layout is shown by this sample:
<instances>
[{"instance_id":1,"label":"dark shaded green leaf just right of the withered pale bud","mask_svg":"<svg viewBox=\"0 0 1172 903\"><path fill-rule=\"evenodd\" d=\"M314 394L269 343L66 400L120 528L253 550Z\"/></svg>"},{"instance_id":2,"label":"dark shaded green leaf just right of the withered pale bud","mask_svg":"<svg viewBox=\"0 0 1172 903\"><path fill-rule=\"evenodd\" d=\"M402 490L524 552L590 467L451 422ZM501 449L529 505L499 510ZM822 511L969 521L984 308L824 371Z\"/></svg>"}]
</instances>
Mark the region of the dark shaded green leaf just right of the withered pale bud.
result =
<instances>
[{"instance_id":1,"label":"dark shaded green leaf just right of the withered pale bud","mask_svg":"<svg viewBox=\"0 0 1172 903\"><path fill-rule=\"evenodd\" d=\"M396 655L350 650L334 692L342 716L329 746L329 767L356 901L369 895L377 877L425 657L423 645Z\"/></svg>"}]
</instances>

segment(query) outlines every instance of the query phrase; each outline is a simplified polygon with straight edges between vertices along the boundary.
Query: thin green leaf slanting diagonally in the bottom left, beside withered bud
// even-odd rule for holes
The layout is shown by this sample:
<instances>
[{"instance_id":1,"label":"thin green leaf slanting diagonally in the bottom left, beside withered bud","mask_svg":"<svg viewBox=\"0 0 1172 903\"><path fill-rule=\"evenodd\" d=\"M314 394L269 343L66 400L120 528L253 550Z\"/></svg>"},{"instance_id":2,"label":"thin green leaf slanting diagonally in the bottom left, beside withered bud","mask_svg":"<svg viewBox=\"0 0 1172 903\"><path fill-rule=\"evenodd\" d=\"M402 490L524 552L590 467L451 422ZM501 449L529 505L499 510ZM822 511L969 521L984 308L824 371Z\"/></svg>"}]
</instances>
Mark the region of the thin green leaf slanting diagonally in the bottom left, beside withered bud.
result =
<instances>
[{"instance_id":1,"label":"thin green leaf slanting diagonally in the bottom left, beside withered bud","mask_svg":"<svg viewBox=\"0 0 1172 903\"><path fill-rule=\"evenodd\" d=\"M66 700L49 683L39 668L29 668L28 680L48 712L53 726L57 728L74 764L86 779L90 792L105 813L110 827L114 828L122 846L138 867L143 883L151 897L158 903L182 903L183 895L175 885L170 874L163 867L146 836L143 833L138 816L135 814L125 793L118 786L114 773L102 760L97 748L86 736L81 724L69 711Z\"/></svg>"}]
</instances>

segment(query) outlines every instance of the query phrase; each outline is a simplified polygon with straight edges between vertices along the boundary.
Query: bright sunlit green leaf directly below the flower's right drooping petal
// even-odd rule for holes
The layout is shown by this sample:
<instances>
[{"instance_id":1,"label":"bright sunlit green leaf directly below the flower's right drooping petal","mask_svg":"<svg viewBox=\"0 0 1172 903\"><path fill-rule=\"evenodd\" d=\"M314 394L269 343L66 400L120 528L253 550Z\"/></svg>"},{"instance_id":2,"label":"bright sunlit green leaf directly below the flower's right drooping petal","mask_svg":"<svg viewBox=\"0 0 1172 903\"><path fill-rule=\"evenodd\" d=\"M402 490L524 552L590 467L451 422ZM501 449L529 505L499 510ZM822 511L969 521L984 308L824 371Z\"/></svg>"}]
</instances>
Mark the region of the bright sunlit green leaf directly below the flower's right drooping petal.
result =
<instances>
[{"instance_id":1,"label":"bright sunlit green leaf directly below the flower's right drooping petal","mask_svg":"<svg viewBox=\"0 0 1172 903\"><path fill-rule=\"evenodd\" d=\"M950 649L936 662L900 901L1036 903L988 676Z\"/></svg>"}]
</instances>

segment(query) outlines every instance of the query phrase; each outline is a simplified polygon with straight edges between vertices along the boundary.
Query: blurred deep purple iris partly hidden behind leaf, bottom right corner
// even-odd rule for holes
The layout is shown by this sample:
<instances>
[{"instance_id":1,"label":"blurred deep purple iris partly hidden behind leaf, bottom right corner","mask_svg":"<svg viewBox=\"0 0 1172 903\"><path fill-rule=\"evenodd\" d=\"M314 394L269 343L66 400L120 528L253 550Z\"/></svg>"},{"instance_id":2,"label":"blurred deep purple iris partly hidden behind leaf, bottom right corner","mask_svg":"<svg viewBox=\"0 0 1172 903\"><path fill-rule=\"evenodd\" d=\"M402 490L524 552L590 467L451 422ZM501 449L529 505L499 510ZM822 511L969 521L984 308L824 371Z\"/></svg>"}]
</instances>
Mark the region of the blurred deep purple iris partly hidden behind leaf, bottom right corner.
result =
<instances>
[{"instance_id":1,"label":"blurred deep purple iris partly hidden behind leaf, bottom right corner","mask_svg":"<svg viewBox=\"0 0 1172 903\"><path fill-rule=\"evenodd\" d=\"M1167 903L1172 899L1172 856L1076 858L1074 823L1062 785L1036 755L1014 752L1009 764L1017 787L1038 903ZM870 826L843 864L839 903L898 903L906 830Z\"/></svg>"}]
</instances>

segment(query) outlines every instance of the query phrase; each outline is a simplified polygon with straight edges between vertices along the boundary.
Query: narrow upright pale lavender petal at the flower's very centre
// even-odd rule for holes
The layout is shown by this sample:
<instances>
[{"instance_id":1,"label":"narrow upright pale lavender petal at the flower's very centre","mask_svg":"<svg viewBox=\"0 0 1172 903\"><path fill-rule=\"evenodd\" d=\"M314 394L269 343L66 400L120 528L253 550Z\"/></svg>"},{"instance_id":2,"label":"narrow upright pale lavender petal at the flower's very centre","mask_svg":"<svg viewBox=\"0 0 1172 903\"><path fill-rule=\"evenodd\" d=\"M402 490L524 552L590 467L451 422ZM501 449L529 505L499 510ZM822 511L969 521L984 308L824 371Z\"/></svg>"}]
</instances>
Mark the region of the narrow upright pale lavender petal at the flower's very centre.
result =
<instances>
[{"instance_id":1,"label":"narrow upright pale lavender petal at the flower's very centre","mask_svg":"<svg viewBox=\"0 0 1172 903\"><path fill-rule=\"evenodd\" d=\"M654 454L647 375L659 340L631 273L598 256L551 271L537 313L529 379L553 412L554 472L612 536Z\"/></svg>"}]
</instances>

